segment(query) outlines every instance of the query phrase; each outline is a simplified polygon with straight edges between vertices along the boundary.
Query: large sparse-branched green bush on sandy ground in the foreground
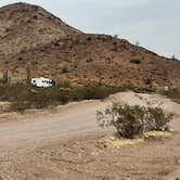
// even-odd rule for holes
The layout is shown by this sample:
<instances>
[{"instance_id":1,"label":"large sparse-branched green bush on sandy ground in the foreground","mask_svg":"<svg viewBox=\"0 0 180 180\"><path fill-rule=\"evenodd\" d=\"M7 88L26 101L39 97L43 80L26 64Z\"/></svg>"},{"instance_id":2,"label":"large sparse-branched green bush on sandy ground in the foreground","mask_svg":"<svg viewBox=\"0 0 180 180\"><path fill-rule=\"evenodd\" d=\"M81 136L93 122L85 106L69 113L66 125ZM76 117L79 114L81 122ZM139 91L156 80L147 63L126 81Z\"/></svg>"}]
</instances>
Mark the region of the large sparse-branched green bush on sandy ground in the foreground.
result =
<instances>
[{"instance_id":1,"label":"large sparse-branched green bush on sandy ground in the foreground","mask_svg":"<svg viewBox=\"0 0 180 180\"><path fill-rule=\"evenodd\" d=\"M126 139L143 136L145 131L168 130L172 116L160 107L130 106L121 103L113 103L104 113L97 113L100 125L113 125L118 137Z\"/></svg>"}]
</instances>

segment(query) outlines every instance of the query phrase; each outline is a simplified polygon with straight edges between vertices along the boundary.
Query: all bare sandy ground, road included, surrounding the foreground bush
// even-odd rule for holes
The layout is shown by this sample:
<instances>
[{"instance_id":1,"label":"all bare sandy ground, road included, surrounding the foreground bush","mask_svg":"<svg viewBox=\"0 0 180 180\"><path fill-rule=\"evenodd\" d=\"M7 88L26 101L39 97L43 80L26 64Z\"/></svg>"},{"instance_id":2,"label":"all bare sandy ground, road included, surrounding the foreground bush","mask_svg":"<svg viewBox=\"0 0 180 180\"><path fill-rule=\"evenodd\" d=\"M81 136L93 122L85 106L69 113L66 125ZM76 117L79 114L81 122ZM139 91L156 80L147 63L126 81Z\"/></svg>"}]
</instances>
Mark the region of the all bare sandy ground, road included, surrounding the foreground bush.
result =
<instances>
[{"instance_id":1,"label":"all bare sandy ground, road included, surrounding the foreground bush","mask_svg":"<svg viewBox=\"0 0 180 180\"><path fill-rule=\"evenodd\" d=\"M145 105L163 102L177 114L167 138L99 149L97 140L112 136L101 129L97 110L112 101ZM105 101L85 101L43 112L0 115L0 180L175 180L180 178L180 105L155 94L133 92Z\"/></svg>"}]
</instances>

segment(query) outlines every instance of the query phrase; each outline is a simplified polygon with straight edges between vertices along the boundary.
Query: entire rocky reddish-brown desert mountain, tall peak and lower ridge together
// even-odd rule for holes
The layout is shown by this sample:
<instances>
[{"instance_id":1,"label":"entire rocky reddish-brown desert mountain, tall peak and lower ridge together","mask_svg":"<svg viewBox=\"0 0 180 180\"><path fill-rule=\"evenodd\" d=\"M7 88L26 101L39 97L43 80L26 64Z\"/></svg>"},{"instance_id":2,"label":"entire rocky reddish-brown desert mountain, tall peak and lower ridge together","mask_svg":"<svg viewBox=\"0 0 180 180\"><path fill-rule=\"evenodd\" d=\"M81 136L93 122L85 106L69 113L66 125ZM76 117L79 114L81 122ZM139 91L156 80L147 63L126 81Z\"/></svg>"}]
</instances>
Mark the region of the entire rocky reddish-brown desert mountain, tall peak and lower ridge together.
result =
<instances>
[{"instance_id":1,"label":"entire rocky reddish-brown desert mountain, tall peak and lower ridge together","mask_svg":"<svg viewBox=\"0 0 180 180\"><path fill-rule=\"evenodd\" d=\"M40 7L15 3L0 9L0 73L11 78L31 76L74 82L180 87L180 62L166 59L127 40L83 34Z\"/></svg>"}]
</instances>

